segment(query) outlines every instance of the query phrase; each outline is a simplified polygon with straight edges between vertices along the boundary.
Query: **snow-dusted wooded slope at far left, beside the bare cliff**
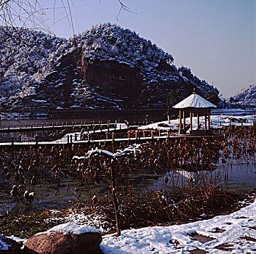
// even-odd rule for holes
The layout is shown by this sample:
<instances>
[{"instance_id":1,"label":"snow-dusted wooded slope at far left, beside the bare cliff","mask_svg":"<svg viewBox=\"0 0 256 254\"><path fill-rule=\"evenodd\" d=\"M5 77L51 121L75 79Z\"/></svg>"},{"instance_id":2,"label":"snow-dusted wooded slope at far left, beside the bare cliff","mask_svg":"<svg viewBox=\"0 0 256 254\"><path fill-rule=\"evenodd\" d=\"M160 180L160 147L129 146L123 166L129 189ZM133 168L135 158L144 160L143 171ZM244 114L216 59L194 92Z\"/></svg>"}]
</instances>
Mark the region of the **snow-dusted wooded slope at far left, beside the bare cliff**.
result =
<instances>
[{"instance_id":1,"label":"snow-dusted wooded slope at far left, beside the bare cliff","mask_svg":"<svg viewBox=\"0 0 256 254\"><path fill-rule=\"evenodd\" d=\"M1 101L33 93L33 84L63 53L60 46L65 42L34 30L0 27Z\"/></svg>"}]
</instances>

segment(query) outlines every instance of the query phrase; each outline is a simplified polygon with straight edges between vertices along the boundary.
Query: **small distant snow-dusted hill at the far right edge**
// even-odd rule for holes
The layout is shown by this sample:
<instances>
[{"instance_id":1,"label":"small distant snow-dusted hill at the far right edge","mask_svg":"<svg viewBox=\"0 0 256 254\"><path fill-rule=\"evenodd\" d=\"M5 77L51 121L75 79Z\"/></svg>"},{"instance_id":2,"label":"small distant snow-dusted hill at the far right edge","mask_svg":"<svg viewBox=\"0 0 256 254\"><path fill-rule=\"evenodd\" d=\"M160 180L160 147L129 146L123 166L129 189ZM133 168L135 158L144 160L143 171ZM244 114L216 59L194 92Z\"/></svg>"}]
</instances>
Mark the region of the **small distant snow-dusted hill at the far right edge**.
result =
<instances>
[{"instance_id":1,"label":"small distant snow-dusted hill at the far right edge","mask_svg":"<svg viewBox=\"0 0 256 254\"><path fill-rule=\"evenodd\" d=\"M229 98L231 104L256 107L256 83L244 87L238 93Z\"/></svg>"}]
</instances>

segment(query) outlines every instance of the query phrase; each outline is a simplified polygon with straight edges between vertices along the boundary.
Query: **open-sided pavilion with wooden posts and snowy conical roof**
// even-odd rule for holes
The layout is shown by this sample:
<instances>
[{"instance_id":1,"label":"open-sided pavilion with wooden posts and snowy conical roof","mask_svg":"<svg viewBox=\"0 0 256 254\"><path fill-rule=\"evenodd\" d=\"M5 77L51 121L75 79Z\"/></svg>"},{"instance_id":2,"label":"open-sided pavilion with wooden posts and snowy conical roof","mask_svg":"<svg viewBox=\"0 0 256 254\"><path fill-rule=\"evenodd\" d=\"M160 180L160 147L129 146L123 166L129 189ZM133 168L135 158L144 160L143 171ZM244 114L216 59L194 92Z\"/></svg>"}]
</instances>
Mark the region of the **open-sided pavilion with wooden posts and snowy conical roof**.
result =
<instances>
[{"instance_id":1,"label":"open-sided pavilion with wooden posts and snowy conical roof","mask_svg":"<svg viewBox=\"0 0 256 254\"><path fill-rule=\"evenodd\" d=\"M192 110L197 110L197 130L200 128L199 123L199 109L204 109L204 131L209 130L210 127L210 115L211 109L216 106L196 93L196 89L193 89L193 94L183 99L177 105L173 106L180 110L180 134L185 133L185 109L190 110L190 133L192 134ZM182 123L182 111L183 111L183 123ZM208 128L207 128L207 111L208 111Z\"/></svg>"}]
</instances>

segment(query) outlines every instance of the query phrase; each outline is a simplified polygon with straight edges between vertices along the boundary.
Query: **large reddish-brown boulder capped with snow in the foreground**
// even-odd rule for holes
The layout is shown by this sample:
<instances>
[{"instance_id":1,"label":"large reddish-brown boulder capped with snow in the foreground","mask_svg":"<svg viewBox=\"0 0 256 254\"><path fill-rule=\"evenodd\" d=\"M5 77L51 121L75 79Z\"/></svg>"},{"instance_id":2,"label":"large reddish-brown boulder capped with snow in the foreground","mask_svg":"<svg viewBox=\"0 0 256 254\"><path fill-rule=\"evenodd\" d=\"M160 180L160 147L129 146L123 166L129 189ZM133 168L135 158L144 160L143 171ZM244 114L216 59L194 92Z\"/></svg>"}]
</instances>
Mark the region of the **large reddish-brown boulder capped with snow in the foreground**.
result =
<instances>
[{"instance_id":1,"label":"large reddish-brown boulder capped with snow in the foreground","mask_svg":"<svg viewBox=\"0 0 256 254\"><path fill-rule=\"evenodd\" d=\"M25 254L88 254L102 253L100 232L89 226L61 224L47 232L30 237L24 246Z\"/></svg>"}]
</instances>

